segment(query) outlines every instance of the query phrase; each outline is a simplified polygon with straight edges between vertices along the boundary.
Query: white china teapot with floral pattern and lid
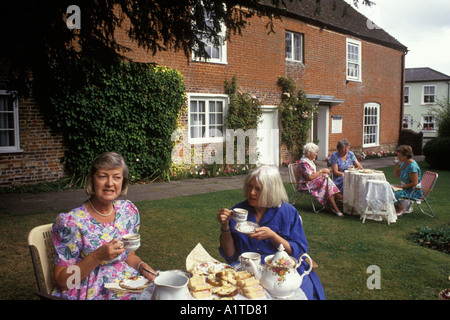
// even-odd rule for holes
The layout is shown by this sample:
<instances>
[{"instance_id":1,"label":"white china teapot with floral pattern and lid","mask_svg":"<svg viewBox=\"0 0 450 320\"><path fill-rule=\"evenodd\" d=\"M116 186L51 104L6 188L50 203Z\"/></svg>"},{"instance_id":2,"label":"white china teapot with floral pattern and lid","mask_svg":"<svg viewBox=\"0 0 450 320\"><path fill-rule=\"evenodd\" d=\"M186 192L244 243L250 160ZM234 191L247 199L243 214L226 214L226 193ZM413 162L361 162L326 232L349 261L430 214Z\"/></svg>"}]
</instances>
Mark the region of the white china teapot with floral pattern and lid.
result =
<instances>
[{"instance_id":1,"label":"white china teapot with floral pattern and lid","mask_svg":"<svg viewBox=\"0 0 450 320\"><path fill-rule=\"evenodd\" d=\"M310 267L302 275L299 275L297 268L302 263L303 257L309 259ZM284 251L282 244L278 247L278 252L264 259L265 267L263 270L258 268L252 260L249 262L255 277L260 281L264 289L272 297L281 299L289 298L295 293L301 286L303 277L311 272L313 265L311 257L307 253L302 254L297 261L297 259L290 257Z\"/></svg>"}]
</instances>

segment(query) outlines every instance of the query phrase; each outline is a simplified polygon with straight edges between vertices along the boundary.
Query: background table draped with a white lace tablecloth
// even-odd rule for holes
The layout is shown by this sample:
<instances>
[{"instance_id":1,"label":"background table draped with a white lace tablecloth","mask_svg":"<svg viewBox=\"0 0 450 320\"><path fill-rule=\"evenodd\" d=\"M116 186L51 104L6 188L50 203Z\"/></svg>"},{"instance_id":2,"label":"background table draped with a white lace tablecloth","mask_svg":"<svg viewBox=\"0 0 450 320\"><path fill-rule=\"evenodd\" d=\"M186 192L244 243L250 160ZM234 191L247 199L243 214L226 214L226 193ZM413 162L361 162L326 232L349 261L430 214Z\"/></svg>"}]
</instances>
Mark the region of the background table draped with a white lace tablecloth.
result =
<instances>
[{"instance_id":1,"label":"background table draped with a white lace tablecloth","mask_svg":"<svg viewBox=\"0 0 450 320\"><path fill-rule=\"evenodd\" d=\"M368 181L371 181L368 184ZM376 181L380 181L377 183ZM397 221L394 207L393 192L387 186L383 171L350 171L344 172L344 212L360 215L365 219L376 221L386 220L388 223ZM372 200L381 201L384 206L374 205Z\"/></svg>"}]
</instances>

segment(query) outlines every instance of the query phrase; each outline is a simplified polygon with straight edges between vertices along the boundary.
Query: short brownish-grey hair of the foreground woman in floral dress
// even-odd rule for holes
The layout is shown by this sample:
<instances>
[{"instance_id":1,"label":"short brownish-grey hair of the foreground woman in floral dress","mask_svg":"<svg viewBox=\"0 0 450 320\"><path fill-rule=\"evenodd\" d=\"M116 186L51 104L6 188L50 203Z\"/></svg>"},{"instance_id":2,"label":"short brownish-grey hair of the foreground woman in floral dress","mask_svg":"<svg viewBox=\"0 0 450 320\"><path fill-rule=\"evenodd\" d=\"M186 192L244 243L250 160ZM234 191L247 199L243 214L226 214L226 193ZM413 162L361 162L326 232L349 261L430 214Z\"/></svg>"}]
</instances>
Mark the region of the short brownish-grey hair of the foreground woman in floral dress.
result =
<instances>
[{"instance_id":1,"label":"short brownish-grey hair of the foreground woman in floral dress","mask_svg":"<svg viewBox=\"0 0 450 320\"><path fill-rule=\"evenodd\" d=\"M122 190L120 192L121 196L127 194L129 179L128 179L128 167L125 163L123 157L115 152L104 152L99 155L91 165L91 170L86 178L86 184L84 186L84 190L88 196L91 196L95 193L94 190L94 175L100 169L116 169L122 168Z\"/></svg>"}]
</instances>

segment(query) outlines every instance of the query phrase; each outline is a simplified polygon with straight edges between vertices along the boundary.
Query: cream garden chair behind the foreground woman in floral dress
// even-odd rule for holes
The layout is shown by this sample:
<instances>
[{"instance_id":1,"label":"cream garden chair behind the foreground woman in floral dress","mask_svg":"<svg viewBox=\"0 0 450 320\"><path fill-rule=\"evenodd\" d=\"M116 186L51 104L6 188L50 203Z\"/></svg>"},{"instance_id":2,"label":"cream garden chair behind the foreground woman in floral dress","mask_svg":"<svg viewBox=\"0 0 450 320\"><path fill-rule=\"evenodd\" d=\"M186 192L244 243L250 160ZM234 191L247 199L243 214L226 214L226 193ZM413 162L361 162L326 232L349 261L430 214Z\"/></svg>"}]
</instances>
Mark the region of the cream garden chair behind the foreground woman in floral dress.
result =
<instances>
[{"instance_id":1,"label":"cream garden chair behind the foreground woman in floral dress","mask_svg":"<svg viewBox=\"0 0 450 320\"><path fill-rule=\"evenodd\" d=\"M55 247L52 242L52 224L33 228L28 234L28 246L38 286L36 295L43 300L58 300L59 298L51 295L55 287L53 278Z\"/></svg>"}]
</instances>

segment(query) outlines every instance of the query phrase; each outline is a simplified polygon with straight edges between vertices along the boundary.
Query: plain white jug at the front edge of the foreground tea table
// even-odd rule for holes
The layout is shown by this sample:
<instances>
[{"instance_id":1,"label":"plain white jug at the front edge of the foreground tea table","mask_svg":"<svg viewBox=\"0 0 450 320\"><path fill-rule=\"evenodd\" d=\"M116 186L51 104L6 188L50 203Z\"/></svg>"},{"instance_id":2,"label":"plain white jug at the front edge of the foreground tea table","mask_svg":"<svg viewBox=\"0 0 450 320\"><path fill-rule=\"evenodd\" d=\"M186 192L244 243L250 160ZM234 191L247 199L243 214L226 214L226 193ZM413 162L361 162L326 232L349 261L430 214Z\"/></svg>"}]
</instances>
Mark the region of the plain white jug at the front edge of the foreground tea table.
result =
<instances>
[{"instance_id":1,"label":"plain white jug at the front edge of the foreground tea table","mask_svg":"<svg viewBox=\"0 0 450 320\"><path fill-rule=\"evenodd\" d=\"M190 300L187 284L189 278L181 274L165 271L155 278L152 300Z\"/></svg>"}]
</instances>

